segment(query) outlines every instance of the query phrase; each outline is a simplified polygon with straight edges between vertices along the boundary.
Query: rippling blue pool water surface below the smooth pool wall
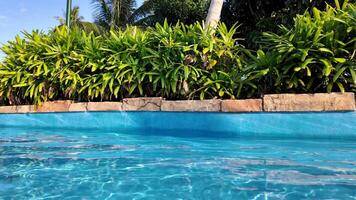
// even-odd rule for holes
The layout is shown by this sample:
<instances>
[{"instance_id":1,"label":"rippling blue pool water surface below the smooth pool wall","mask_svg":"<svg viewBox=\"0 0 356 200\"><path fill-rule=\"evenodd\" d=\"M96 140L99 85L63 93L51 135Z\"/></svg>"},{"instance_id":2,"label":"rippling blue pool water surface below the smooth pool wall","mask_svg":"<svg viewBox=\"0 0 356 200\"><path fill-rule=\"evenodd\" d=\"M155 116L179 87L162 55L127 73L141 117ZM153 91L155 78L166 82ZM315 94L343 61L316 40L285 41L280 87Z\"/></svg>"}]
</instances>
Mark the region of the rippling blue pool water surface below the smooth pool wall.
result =
<instances>
[{"instance_id":1,"label":"rippling blue pool water surface below the smooth pool wall","mask_svg":"<svg viewBox=\"0 0 356 200\"><path fill-rule=\"evenodd\" d=\"M0 199L356 199L352 141L0 135Z\"/></svg>"}]
</instances>

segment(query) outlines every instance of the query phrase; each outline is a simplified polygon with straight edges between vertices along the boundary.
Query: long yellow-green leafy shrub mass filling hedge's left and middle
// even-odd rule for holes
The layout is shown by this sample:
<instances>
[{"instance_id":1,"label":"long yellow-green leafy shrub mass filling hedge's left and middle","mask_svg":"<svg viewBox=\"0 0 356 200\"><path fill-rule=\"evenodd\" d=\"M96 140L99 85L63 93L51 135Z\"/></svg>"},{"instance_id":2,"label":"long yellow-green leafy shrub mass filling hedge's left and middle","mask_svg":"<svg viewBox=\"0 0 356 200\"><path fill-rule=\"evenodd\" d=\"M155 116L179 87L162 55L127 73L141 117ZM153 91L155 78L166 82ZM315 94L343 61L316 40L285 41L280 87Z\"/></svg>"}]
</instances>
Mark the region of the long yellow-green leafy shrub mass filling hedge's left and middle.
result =
<instances>
[{"instance_id":1,"label":"long yellow-green leafy shrub mass filling hedge's left and middle","mask_svg":"<svg viewBox=\"0 0 356 200\"><path fill-rule=\"evenodd\" d=\"M257 87L244 72L236 30L222 24L212 34L199 23L164 23L103 36L78 29L68 34L65 27L24 33L2 47L1 102L252 96Z\"/></svg>"}]
</instances>

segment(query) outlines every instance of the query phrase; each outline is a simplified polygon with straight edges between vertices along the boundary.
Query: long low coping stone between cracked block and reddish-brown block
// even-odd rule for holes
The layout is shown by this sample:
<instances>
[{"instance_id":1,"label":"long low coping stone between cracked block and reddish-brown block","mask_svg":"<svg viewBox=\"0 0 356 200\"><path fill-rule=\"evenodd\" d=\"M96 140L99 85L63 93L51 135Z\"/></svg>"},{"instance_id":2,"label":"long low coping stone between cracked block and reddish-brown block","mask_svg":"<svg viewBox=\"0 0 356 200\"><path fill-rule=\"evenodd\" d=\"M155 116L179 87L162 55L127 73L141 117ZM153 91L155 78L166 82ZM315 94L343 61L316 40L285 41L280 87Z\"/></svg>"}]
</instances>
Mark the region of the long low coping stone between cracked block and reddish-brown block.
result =
<instances>
[{"instance_id":1,"label":"long low coping stone between cracked block and reddish-brown block","mask_svg":"<svg viewBox=\"0 0 356 200\"><path fill-rule=\"evenodd\" d=\"M221 100L162 101L162 111L220 112Z\"/></svg>"}]
</instances>

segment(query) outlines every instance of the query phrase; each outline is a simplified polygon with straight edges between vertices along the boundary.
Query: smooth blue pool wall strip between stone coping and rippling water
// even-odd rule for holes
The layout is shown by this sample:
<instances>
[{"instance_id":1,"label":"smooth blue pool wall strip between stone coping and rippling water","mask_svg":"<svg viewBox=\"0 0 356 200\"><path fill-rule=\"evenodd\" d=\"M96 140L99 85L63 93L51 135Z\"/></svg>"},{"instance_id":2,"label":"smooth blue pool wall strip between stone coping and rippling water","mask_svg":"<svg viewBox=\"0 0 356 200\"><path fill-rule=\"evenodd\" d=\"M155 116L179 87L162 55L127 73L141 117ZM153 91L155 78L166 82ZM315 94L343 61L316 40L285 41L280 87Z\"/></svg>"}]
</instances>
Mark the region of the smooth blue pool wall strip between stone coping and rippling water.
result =
<instances>
[{"instance_id":1,"label":"smooth blue pool wall strip between stone coping and rippling water","mask_svg":"<svg viewBox=\"0 0 356 200\"><path fill-rule=\"evenodd\" d=\"M356 112L72 112L0 114L0 129L164 130L178 136L355 139ZM189 134L189 135L185 135Z\"/></svg>"}]
</instances>

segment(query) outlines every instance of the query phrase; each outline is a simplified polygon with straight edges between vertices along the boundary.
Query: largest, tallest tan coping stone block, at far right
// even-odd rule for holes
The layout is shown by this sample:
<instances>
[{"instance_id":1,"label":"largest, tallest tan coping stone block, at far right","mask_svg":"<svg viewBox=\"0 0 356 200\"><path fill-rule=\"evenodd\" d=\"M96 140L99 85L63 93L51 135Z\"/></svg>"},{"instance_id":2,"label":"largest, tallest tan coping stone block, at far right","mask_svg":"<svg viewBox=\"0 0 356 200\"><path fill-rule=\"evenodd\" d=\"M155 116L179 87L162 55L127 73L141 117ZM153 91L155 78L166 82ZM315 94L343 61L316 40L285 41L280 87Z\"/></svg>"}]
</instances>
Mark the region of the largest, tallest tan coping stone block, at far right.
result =
<instances>
[{"instance_id":1,"label":"largest, tallest tan coping stone block, at far right","mask_svg":"<svg viewBox=\"0 0 356 200\"><path fill-rule=\"evenodd\" d=\"M273 94L263 97L266 112L355 110L354 93Z\"/></svg>"}]
</instances>

